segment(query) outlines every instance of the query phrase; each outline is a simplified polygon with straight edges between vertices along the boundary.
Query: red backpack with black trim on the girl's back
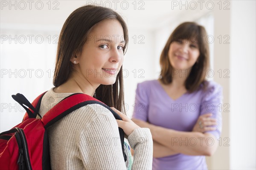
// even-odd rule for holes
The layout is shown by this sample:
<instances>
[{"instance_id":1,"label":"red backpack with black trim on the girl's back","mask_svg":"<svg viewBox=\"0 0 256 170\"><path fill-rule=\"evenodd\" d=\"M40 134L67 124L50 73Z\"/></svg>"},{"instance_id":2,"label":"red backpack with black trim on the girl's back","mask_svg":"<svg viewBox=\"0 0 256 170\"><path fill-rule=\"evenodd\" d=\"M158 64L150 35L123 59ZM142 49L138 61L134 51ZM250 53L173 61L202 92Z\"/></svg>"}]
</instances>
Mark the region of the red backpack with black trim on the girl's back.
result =
<instances>
[{"instance_id":1,"label":"red backpack with black trim on the girl's back","mask_svg":"<svg viewBox=\"0 0 256 170\"><path fill-rule=\"evenodd\" d=\"M0 133L0 170L50 170L47 127L87 104L100 104L108 108L116 119L122 120L116 112L101 101L82 93L64 98L41 118L38 110L44 94L45 92L39 95L32 104L22 94L12 95L12 98L26 109L26 113L20 124ZM123 147L124 131L121 128L119 128L119 135L126 161Z\"/></svg>"}]
</instances>

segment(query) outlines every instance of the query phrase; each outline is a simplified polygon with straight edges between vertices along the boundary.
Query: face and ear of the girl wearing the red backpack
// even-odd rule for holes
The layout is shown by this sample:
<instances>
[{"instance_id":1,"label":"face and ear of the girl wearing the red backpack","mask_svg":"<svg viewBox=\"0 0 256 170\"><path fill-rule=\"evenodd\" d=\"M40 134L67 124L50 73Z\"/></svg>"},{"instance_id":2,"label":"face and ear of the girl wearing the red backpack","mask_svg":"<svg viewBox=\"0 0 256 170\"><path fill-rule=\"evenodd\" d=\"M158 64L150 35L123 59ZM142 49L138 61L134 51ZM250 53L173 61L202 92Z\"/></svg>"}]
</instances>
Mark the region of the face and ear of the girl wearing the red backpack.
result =
<instances>
[{"instance_id":1,"label":"face and ear of the girl wearing the red backpack","mask_svg":"<svg viewBox=\"0 0 256 170\"><path fill-rule=\"evenodd\" d=\"M76 60L76 72L91 85L111 85L124 61L124 33L117 20L103 20L87 35L82 52Z\"/></svg>"}]
</instances>

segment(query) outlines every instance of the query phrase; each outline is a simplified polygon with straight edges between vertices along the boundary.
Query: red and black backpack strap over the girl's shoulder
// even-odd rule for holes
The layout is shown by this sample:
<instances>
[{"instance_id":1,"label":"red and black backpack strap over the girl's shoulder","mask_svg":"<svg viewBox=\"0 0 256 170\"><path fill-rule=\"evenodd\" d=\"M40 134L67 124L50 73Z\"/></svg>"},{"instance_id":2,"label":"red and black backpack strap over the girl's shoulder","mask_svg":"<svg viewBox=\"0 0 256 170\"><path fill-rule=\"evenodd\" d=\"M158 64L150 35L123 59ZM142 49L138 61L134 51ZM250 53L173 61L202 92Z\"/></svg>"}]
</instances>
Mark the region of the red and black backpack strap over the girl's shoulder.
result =
<instances>
[{"instance_id":1,"label":"red and black backpack strap over the girl's shoulder","mask_svg":"<svg viewBox=\"0 0 256 170\"><path fill-rule=\"evenodd\" d=\"M87 104L100 104L106 108L108 108L111 113L114 115L114 117L118 120L122 120L122 118L114 112L110 107L103 104L101 101L97 100L96 98L91 97L90 95L86 95L83 93L75 93L72 94L66 98L64 98L62 101L60 101L58 104L56 104L52 109L50 109L41 119L41 121L44 124L44 127L47 129L49 126L63 118L64 116L68 115L70 112L73 112L76 109L79 109L80 107L86 106ZM125 152L124 152L124 131L122 128L119 129L119 135L120 140L122 144L122 152L123 156L125 158L125 161L127 160Z\"/></svg>"}]
</instances>

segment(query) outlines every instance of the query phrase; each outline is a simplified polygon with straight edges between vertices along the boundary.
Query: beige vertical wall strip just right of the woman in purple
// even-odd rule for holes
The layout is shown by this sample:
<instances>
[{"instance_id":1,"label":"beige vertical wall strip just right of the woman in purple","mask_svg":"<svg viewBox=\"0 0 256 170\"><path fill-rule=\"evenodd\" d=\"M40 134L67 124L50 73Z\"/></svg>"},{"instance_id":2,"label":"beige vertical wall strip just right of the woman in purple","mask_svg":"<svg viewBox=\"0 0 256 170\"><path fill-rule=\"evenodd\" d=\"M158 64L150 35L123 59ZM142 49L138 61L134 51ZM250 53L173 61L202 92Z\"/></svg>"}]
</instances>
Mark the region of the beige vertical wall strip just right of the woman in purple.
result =
<instances>
[{"instance_id":1,"label":"beige vertical wall strip just right of the woman in purple","mask_svg":"<svg viewBox=\"0 0 256 170\"><path fill-rule=\"evenodd\" d=\"M230 2L230 1L227 1ZM230 169L230 43L231 40L224 38L224 36L230 37L230 9L225 10L227 5L222 3L221 9L215 1L217 8L213 11L214 16L214 58L213 58L213 70L214 81L221 84L223 87L223 102L221 104L222 111L222 133L219 139L219 146L214 156L209 157L209 163L213 170ZM231 3L231 2L230 2ZM228 8L231 8L228 5ZM218 38L219 37L219 38ZM225 41L227 40L227 42ZM225 70L225 71L224 71ZM227 71L227 72L226 72Z\"/></svg>"}]
</instances>

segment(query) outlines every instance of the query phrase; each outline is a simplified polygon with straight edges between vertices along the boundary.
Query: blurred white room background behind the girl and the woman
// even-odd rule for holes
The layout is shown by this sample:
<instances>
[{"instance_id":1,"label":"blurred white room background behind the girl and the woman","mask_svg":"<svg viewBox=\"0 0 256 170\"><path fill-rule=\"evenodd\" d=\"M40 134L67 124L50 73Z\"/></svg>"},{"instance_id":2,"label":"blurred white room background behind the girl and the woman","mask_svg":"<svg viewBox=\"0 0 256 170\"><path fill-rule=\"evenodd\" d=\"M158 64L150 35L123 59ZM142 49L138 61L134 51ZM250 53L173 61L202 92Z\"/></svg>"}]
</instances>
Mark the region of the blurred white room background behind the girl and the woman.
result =
<instances>
[{"instance_id":1,"label":"blurred white room background behind the girl and the woman","mask_svg":"<svg viewBox=\"0 0 256 170\"><path fill-rule=\"evenodd\" d=\"M0 132L20 123L25 110L11 97L33 101L53 87L58 36L64 21L80 6L94 4L122 14L129 30L124 61L125 107L133 113L137 83L157 79L161 50L184 21L209 34L207 78L223 86L223 131L209 169L256 169L256 1L255 0L1 0Z\"/></svg>"}]
</instances>

